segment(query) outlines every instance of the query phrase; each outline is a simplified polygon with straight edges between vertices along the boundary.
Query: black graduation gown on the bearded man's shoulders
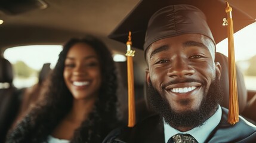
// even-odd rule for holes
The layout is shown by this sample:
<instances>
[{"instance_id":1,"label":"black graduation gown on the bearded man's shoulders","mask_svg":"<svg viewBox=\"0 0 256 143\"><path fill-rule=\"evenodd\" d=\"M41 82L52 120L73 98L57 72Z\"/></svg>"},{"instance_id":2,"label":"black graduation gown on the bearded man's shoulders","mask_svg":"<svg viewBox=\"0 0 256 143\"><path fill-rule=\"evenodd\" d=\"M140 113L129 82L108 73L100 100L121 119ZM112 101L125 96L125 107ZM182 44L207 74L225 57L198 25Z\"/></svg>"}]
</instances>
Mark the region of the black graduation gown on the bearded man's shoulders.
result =
<instances>
[{"instance_id":1,"label":"black graduation gown on the bearded man's shoulders","mask_svg":"<svg viewBox=\"0 0 256 143\"><path fill-rule=\"evenodd\" d=\"M235 125L227 123L226 108L222 109L221 121L212 130L205 142L256 142L256 126L239 116L239 122ZM104 143L136 143L136 142L158 142L164 143L164 124L162 117L150 116L134 128L118 128L106 136ZM201 142L199 142L201 143Z\"/></svg>"}]
</instances>

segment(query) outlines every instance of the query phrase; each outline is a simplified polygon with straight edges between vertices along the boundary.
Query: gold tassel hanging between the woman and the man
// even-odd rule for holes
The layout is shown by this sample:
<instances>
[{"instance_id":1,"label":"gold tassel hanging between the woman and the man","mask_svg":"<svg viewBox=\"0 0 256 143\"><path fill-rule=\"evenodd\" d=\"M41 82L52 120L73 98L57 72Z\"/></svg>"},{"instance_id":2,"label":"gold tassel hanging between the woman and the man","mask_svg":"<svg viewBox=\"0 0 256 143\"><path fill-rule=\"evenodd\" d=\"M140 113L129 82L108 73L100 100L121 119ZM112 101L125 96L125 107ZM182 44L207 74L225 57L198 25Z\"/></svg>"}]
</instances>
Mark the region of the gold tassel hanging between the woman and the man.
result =
<instances>
[{"instance_id":1,"label":"gold tassel hanging between the woman and the man","mask_svg":"<svg viewBox=\"0 0 256 143\"><path fill-rule=\"evenodd\" d=\"M135 125L135 103L134 103L134 73L132 57L134 52L131 50L131 32L129 32L127 41L127 78L128 78L128 127Z\"/></svg>"}]
</instances>

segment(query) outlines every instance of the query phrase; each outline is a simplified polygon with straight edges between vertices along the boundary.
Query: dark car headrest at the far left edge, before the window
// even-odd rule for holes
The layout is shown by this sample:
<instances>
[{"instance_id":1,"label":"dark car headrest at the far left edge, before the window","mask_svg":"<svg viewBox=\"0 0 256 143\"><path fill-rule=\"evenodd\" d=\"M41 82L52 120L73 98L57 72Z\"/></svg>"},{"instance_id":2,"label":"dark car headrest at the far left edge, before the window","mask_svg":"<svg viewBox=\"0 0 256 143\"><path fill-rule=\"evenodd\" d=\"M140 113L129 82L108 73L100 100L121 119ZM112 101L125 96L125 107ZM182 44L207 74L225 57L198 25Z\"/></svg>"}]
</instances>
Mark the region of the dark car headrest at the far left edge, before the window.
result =
<instances>
[{"instance_id":1,"label":"dark car headrest at the far left edge, before the window","mask_svg":"<svg viewBox=\"0 0 256 143\"><path fill-rule=\"evenodd\" d=\"M13 83L13 67L10 61L0 57L0 82Z\"/></svg>"}]
</instances>

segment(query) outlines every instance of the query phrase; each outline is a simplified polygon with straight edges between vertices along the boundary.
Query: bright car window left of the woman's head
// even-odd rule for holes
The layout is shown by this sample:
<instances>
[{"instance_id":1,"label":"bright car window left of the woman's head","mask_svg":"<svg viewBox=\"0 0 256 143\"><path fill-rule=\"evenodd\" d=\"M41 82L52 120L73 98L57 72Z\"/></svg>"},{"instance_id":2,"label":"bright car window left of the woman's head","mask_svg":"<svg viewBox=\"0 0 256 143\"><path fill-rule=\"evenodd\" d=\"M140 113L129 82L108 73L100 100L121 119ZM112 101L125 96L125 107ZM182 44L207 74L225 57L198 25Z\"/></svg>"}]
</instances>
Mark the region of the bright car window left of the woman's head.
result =
<instances>
[{"instance_id":1,"label":"bright car window left of the woman's head","mask_svg":"<svg viewBox=\"0 0 256 143\"><path fill-rule=\"evenodd\" d=\"M8 48L4 51L4 58L13 64L13 84L17 88L26 88L38 82L38 74L43 64L55 66L61 45L29 45Z\"/></svg>"}]
</instances>

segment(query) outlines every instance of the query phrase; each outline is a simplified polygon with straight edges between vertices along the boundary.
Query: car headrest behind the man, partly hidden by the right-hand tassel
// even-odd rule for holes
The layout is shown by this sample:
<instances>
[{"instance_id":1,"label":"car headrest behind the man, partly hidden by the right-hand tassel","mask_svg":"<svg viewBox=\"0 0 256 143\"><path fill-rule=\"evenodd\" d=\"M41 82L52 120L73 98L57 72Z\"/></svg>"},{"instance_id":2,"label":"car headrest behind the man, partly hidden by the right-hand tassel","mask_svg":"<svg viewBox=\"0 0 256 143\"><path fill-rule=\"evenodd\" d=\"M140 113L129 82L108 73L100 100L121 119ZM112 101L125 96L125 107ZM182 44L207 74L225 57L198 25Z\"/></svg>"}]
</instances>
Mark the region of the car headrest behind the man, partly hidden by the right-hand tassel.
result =
<instances>
[{"instance_id":1,"label":"car headrest behind the man, partly hidden by the right-hand tassel","mask_svg":"<svg viewBox=\"0 0 256 143\"><path fill-rule=\"evenodd\" d=\"M223 90L223 101L220 103L221 106L229 108L229 67L228 58L226 55L217 52L215 55L215 62L221 65L221 88ZM245 81L243 79L243 74L236 66L236 82L238 86L238 102L239 102L239 113L245 108L247 101L247 90L245 87Z\"/></svg>"}]
</instances>

